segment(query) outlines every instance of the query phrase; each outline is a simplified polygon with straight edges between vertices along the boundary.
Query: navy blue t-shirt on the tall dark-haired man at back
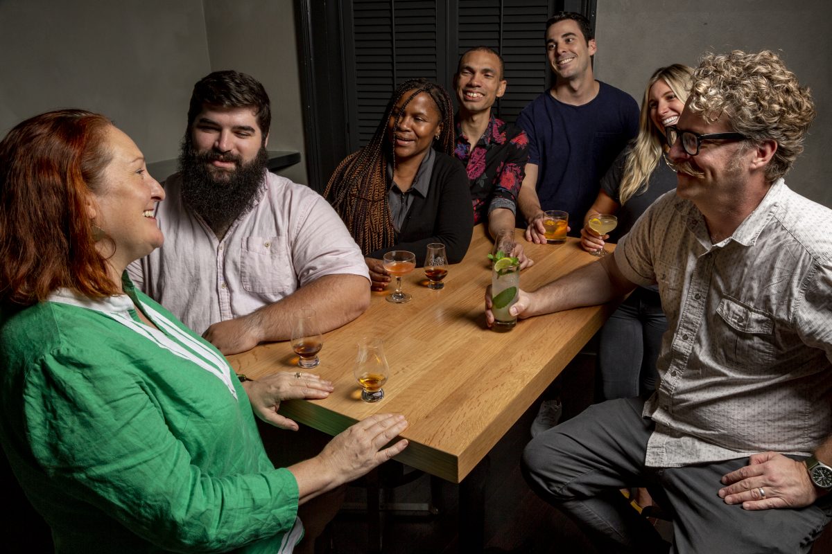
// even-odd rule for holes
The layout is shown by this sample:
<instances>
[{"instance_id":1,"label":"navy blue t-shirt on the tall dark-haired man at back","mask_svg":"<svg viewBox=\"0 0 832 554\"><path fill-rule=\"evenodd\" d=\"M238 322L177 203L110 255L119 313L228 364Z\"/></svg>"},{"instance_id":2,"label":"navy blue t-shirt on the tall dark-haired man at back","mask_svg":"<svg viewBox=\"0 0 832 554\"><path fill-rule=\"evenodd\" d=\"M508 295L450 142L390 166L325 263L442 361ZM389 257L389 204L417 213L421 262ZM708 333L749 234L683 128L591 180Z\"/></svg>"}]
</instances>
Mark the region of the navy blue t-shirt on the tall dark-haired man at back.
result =
<instances>
[{"instance_id":1,"label":"navy blue t-shirt on the tall dark-haired man at back","mask_svg":"<svg viewBox=\"0 0 832 554\"><path fill-rule=\"evenodd\" d=\"M574 236L581 233L602 176L638 132L632 96L601 81L598 85L597 96L584 105L564 104L546 91L517 120L528 135L528 163L537 164L540 205L568 212Z\"/></svg>"}]
</instances>

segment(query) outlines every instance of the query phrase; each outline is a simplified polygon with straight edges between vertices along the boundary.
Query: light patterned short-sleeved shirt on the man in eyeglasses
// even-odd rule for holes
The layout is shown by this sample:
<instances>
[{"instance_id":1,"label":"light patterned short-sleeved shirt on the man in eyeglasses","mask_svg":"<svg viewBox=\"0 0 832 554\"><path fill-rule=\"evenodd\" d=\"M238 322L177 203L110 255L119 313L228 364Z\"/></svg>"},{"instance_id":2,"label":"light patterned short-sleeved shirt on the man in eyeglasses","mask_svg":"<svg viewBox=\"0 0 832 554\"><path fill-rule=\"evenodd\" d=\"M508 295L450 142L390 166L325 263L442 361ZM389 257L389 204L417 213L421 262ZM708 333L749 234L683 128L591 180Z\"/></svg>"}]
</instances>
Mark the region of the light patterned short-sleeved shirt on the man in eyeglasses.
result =
<instances>
[{"instance_id":1,"label":"light patterned short-sleeved shirt on the man in eyeglasses","mask_svg":"<svg viewBox=\"0 0 832 554\"><path fill-rule=\"evenodd\" d=\"M671 191L615 261L632 282L658 283L669 323L644 409L656 422L646 465L805 455L832 434L832 210L780 179L711 244L700 211Z\"/></svg>"}]
</instances>

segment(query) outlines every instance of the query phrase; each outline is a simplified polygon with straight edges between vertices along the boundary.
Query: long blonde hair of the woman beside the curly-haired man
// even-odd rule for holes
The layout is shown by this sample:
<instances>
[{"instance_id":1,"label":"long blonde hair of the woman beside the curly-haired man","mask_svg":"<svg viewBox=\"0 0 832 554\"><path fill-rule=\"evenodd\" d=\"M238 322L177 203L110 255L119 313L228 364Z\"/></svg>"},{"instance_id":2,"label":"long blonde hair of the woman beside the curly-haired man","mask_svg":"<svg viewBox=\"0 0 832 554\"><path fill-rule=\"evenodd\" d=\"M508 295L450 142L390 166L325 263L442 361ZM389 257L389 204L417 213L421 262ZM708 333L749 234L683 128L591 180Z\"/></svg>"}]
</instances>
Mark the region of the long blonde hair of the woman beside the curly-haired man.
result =
<instances>
[{"instance_id":1,"label":"long blonde hair of the woman beside the curly-haired man","mask_svg":"<svg viewBox=\"0 0 832 554\"><path fill-rule=\"evenodd\" d=\"M693 68L675 63L672 66L659 67L653 72L641 100L641 115L638 121L638 136L632 143L630 155L626 158L618 200L622 205L639 191L646 190L647 182L661 159L661 149L665 144L665 135L656 129L650 119L650 89L661 79L671 88L673 94L682 102L687 101L691 91Z\"/></svg>"}]
</instances>

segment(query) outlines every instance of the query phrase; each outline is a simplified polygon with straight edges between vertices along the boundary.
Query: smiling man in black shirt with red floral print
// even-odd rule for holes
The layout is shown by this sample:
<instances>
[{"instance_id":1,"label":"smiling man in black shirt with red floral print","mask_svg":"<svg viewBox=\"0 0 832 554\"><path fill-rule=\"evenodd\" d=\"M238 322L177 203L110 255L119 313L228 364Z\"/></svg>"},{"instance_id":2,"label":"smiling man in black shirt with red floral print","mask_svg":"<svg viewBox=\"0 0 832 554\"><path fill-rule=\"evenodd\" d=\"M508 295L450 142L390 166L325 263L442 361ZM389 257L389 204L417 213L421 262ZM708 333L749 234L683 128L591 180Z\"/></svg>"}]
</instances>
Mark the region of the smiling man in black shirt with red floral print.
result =
<instances>
[{"instance_id":1,"label":"smiling man in black shirt with red floral print","mask_svg":"<svg viewBox=\"0 0 832 554\"><path fill-rule=\"evenodd\" d=\"M506 91L503 58L488 47L475 47L459 60L453 86L459 111L453 154L468 170L474 223L488 222L495 250L531 260L514 242L517 197L528 159L526 133L491 115L491 106Z\"/></svg>"}]
</instances>

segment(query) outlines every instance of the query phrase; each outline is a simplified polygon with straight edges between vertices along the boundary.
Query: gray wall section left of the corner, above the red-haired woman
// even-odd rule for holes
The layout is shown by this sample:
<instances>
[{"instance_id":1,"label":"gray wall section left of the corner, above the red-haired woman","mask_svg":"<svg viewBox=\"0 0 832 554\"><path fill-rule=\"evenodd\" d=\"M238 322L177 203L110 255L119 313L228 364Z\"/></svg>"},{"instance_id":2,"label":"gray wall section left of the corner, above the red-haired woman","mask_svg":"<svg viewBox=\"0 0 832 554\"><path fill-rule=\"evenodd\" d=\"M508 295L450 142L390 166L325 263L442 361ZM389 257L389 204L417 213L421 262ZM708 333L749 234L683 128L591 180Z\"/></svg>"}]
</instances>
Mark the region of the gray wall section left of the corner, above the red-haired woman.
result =
<instances>
[{"instance_id":1,"label":"gray wall section left of the corner, above the red-haired woman","mask_svg":"<svg viewBox=\"0 0 832 554\"><path fill-rule=\"evenodd\" d=\"M0 52L0 134L84 108L149 162L176 157L191 88L210 72L201 0L0 0Z\"/></svg>"}]
</instances>

